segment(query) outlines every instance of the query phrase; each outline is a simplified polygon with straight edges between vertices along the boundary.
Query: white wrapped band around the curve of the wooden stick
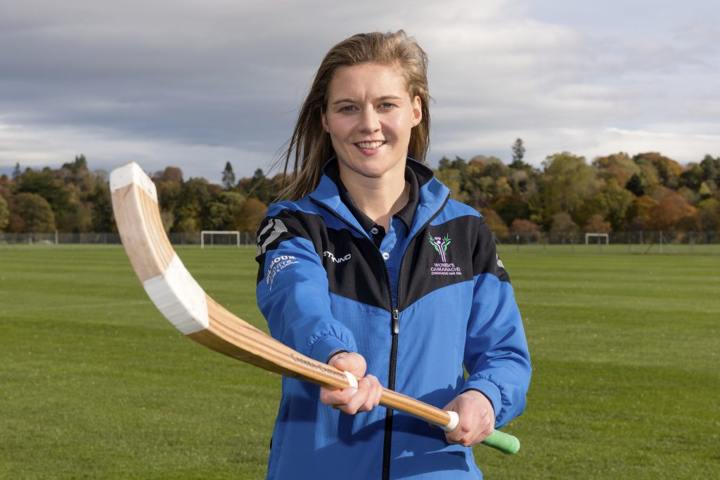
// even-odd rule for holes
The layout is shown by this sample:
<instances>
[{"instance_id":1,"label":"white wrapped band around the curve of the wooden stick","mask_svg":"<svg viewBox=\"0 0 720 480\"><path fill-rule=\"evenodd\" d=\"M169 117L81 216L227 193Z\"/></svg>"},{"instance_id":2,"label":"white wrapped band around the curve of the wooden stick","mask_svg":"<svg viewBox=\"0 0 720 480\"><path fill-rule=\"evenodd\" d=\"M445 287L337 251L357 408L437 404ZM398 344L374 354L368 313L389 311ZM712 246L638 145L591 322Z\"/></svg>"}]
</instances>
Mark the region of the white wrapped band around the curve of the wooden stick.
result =
<instances>
[{"instance_id":1,"label":"white wrapped band around the curve of the wooden stick","mask_svg":"<svg viewBox=\"0 0 720 480\"><path fill-rule=\"evenodd\" d=\"M165 273L146 280L143 286L158 310L185 335L210 326L205 292L177 253Z\"/></svg>"}]
</instances>

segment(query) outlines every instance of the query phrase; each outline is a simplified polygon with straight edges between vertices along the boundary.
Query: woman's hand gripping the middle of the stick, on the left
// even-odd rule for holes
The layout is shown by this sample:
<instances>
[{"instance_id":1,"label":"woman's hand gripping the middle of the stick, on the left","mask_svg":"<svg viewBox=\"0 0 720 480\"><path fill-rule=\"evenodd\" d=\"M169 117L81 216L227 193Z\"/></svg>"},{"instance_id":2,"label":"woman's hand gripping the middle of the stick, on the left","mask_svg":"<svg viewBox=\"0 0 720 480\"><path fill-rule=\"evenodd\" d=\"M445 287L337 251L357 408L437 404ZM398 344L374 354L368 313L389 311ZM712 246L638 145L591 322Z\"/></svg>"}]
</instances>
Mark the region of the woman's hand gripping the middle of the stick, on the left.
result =
<instances>
[{"instance_id":1,"label":"woman's hand gripping the middle of the stick, on the left","mask_svg":"<svg viewBox=\"0 0 720 480\"><path fill-rule=\"evenodd\" d=\"M330 358L328 362L342 371L348 371L357 378L358 388L348 387L342 390L330 390L320 387L320 402L325 405L332 405L333 408L355 415L358 412L368 412L380 403L382 385L372 375L365 375L367 364L365 358L359 353L338 353Z\"/></svg>"}]
</instances>

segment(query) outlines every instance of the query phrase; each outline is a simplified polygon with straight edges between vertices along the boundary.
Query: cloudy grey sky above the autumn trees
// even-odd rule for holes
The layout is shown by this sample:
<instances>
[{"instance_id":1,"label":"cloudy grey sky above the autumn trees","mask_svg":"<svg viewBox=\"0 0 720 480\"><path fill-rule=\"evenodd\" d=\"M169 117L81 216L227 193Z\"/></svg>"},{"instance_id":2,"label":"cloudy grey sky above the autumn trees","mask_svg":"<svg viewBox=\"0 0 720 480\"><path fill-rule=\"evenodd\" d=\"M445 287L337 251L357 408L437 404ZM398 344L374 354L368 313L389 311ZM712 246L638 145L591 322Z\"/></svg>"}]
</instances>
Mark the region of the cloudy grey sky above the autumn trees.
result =
<instances>
[{"instance_id":1,"label":"cloudy grey sky above the autumn trees","mask_svg":"<svg viewBox=\"0 0 720 480\"><path fill-rule=\"evenodd\" d=\"M266 170L328 48L405 29L430 58L428 162L720 155L712 0L2 0L0 173L135 160Z\"/></svg>"}]
</instances>

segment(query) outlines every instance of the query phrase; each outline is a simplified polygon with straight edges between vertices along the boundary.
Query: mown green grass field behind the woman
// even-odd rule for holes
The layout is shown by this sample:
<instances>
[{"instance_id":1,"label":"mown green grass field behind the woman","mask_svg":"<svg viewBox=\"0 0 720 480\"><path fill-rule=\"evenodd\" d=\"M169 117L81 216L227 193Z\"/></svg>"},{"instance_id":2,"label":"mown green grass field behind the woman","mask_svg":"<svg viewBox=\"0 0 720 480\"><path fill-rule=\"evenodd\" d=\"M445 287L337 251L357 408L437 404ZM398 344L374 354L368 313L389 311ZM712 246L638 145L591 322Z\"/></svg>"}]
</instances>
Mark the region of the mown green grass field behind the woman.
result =
<instances>
[{"instance_id":1,"label":"mown green grass field behind the woman","mask_svg":"<svg viewBox=\"0 0 720 480\"><path fill-rule=\"evenodd\" d=\"M252 249L178 251L264 328ZM720 255L501 253L534 377L485 477L718 478ZM0 478L264 478L279 377L183 338L120 247L0 247L0 327Z\"/></svg>"}]
</instances>

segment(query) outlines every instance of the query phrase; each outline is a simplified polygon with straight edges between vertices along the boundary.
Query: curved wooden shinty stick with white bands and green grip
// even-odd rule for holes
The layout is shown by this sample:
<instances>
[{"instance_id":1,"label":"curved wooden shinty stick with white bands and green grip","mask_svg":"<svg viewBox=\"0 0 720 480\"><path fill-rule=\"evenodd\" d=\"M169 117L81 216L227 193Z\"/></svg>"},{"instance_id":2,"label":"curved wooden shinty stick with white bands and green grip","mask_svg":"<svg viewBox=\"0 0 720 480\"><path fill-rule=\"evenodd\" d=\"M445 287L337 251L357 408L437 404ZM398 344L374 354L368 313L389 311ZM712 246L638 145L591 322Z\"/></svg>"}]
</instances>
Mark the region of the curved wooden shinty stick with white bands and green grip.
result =
<instances>
[{"instance_id":1,"label":"curved wooden shinty stick with white bands and green grip","mask_svg":"<svg viewBox=\"0 0 720 480\"><path fill-rule=\"evenodd\" d=\"M122 245L140 283L163 315L197 343L267 371L309 381L330 389L357 385L351 374L298 353L256 327L240 320L207 295L183 266L163 229L155 185L137 163L128 163L110 176L112 208ZM397 391L384 389L380 404L399 410L446 431L458 417ZM483 441L506 453L520 443L495 430Z\"/></svg>"}]
</instances>

